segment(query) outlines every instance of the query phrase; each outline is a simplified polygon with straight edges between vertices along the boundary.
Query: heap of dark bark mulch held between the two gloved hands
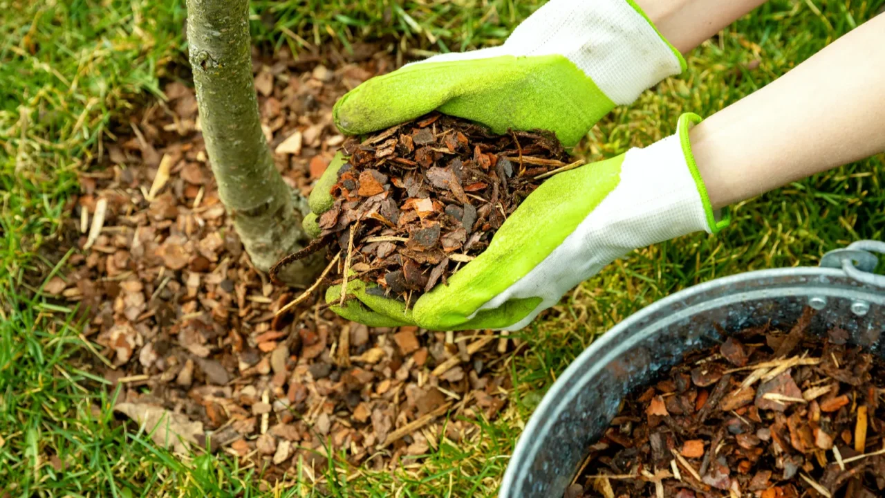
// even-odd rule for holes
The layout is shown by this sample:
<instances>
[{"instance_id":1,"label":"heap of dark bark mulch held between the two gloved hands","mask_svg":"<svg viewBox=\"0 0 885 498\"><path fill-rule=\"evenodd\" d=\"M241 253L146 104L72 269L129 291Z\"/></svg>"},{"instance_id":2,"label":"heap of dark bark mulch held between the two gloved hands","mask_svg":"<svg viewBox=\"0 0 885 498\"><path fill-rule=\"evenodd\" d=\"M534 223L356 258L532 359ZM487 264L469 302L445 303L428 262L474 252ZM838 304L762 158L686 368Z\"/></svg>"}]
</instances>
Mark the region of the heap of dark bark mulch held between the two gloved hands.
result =
<instances>
[{"instance_id":1,"label":"heap of dark bark mulch held between the two gloved hands","mask_svg":"<svg viewBox=\"0 0 885 498\"><path fill-rule=\"evenodd\" d=\"M340 276L407 301L481 253L544 178L582 164L567 162L553 133L499 136L439 113L342 148L350 160L319 216L323 231L289 261L328 245Z\"/></svg>"}]
</instances>

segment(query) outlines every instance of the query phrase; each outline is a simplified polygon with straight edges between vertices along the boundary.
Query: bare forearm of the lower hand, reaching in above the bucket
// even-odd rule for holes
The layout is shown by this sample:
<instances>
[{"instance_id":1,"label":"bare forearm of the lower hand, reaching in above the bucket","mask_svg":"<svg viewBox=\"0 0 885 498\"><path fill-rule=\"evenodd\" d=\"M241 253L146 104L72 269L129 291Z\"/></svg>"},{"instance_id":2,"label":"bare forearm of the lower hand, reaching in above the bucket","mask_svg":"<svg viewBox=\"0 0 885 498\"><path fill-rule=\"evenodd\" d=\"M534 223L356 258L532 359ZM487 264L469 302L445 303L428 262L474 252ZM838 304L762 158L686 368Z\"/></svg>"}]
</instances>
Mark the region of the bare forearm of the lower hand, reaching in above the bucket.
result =
<instances>
[{"instance_id":1,"label":"bare forearm of the lower hand, reaching in above the bucket","mask_svg":"<svg viewBox=\"0 0 885 498\"><path fill-rule=\"evenodd\" d=\"M714 207L885 151L885 16L690 133Z\"/></svg>"}]
</instances>

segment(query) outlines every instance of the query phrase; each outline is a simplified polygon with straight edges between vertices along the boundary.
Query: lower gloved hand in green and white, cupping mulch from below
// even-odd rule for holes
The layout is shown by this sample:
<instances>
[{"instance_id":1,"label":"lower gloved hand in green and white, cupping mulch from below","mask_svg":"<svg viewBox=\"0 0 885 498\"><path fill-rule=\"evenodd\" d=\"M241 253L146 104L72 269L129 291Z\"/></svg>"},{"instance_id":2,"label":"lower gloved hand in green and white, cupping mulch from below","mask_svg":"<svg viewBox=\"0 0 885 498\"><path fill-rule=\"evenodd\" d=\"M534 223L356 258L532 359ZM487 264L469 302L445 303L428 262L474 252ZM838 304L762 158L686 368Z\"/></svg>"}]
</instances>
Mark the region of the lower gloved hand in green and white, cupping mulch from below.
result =
<instances>
[{"instance_id":1,"label":"lower gloved hand in green and white, cupping mulch from below","mask_svg":"<svg viewBox=\"0 0 885 498\"><path fill-rule=\"evenodd\" d=\"M410 309L385 298L377 285L357 280L348 284L348 294L358 300L332 309L373 326L518 330L636 248L694 231L719 231L727 220L715 219L689 144L689 127L699 121L696 114L683 114L673 136L552 176L504 222L483 253ZM335 174L342 159L337 162ZM327 183L326 192L334 177ZM314 191L312 207L324 200ZM334 286L326 299L334 302L340 295L341 287Z\"/></svg>"}]
</instances>

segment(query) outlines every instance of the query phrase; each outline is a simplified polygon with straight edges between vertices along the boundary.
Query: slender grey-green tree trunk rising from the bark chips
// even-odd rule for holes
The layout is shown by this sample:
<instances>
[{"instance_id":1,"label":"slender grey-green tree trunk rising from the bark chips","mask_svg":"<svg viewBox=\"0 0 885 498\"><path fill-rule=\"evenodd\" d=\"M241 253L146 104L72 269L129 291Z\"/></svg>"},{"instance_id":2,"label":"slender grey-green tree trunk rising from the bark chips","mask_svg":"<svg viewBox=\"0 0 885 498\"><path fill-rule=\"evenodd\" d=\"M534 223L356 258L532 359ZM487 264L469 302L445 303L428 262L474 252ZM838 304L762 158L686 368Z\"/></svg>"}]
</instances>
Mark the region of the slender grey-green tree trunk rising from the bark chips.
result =
<instances>
[{"instance_id":1,"label":"slender grey-green tree trunk rising from the bark chips","mask_svg":"<svg viewBox=\"0 0 885 498\"><path fill-rule=\"evenodd\" d=\"M283 182L261 130L252 80L249 0L187 0L190 66L206 152L221 202L246 252L267 271L309 241L301 222L307 202ZM281 278L306 284L317 261Z\"/></svg>"}]
</instances>

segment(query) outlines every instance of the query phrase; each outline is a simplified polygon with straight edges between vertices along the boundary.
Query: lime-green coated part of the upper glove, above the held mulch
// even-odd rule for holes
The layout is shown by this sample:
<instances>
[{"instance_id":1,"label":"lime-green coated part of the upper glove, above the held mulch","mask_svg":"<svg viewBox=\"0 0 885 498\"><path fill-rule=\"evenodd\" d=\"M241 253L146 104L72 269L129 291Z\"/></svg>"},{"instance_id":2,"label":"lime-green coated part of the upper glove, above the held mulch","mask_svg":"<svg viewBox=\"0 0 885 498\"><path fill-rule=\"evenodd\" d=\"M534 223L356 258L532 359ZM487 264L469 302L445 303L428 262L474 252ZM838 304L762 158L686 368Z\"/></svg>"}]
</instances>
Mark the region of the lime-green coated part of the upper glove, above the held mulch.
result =
<instances>
[{"instance_id":1,"label":"lime-green coated part of the upper glove, above the held mulch","mask_svg":"<svg viewBox=\"0 0 885 498\"><path fill-rule=\"evenodd\" d=\"M422 62L377 76L335 103L346 134L388 128L438 110L495 133L549 129L572 146L614 104L560 55Z\"/></svg>"}]
</instances>

